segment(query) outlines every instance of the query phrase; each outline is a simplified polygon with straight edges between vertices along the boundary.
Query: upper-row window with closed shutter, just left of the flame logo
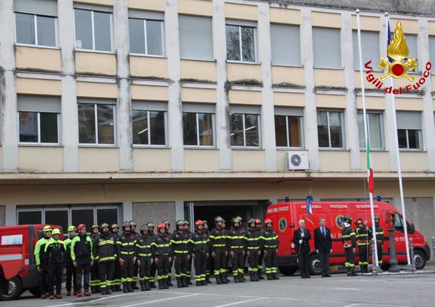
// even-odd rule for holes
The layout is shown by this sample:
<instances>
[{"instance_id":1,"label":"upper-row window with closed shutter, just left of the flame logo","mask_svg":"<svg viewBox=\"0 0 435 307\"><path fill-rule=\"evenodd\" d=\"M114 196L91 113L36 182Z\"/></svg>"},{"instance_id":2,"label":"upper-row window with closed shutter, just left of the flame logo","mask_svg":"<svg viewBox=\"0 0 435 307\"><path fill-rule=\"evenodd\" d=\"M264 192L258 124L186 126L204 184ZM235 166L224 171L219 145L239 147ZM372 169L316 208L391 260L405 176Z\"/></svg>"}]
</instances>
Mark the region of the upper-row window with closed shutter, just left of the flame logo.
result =
<instances>
[{"instance_id":1,"label":"upper-row window with closed shutter, just left of the flame logo","mask_svg":"<svg viewBox=\"0 0 435 307\"><path fill-rule=\"evenodd\" d=\"M358 32L352 32L354 41L354 69L359 71L359 48ZM367 61L377 63L379 61L379 32L361 31L362 67ZM380 71L379 66L374 66L375 71Z\"/></svg>"}]
</instances>

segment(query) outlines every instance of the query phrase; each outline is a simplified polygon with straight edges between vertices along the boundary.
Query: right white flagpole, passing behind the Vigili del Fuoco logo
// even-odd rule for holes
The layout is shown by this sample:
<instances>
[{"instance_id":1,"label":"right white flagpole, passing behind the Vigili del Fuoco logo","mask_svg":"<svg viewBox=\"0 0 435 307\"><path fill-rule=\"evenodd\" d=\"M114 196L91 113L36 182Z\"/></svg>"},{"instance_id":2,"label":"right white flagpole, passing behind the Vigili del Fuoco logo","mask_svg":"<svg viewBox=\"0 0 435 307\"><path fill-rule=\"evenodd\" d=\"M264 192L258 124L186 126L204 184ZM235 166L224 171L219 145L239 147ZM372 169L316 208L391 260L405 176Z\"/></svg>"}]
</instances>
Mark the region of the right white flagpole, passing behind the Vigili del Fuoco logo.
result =
<instances>
[{"instance_id":1,"label":"right white flagpole, passing behind the Vigili del Fuoco logo","mask_svg":"<svg viewBox=\"0 0 435 307\"><path fill-rule=\"evenodd\" d=\"M389 24L389 14L386 12L385 18L387 19L387 31ZM387 34L388 35L388 34ZM394 88L393 78L389 77L389 83L391 89ZM408 225L406 224L406 213L405 213L405 201L404 201L404 187L401 180L401 165L400 165L400 155L399 155L399 137L397 135L397 120L396 120L396 100L394 99L394 94L391 90L391 105L393 107L393 124L394 124L394 145L396 145L396 165L397 173L399 175L399 191L400 191L400 204L401 204L401 215L404 222L404 233L405 233L405 246L406 246L406 260L408 261L408 269L411 269L411 256L409 255L409 240L408 240Z\"/></svg>"}]
</instances>

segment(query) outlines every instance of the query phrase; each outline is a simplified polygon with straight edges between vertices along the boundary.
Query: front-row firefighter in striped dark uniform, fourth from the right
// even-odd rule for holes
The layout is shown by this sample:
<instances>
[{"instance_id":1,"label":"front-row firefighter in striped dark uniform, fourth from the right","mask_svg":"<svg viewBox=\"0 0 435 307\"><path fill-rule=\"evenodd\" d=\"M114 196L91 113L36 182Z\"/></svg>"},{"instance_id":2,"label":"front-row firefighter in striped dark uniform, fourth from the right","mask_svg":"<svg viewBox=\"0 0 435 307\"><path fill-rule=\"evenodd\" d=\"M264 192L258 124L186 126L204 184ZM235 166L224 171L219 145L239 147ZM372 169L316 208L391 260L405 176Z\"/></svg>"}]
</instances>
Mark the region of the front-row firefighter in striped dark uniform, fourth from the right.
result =
<instances>
[{"instance_id":1,"label":"front-row firefighter in striped dark uniform, fourth from the right","mask_svg":"<svg viewBox=\"0 0 435 307\"><path fill-rule=\"evenodd\" d=\"M228 256L227 233L224 224L225 219L215 217L216 228L210 232L210 251L213 257L213 267L215 269L216 283L228 283L225 276L225 263Z\"/></svg>"}]
</instances>

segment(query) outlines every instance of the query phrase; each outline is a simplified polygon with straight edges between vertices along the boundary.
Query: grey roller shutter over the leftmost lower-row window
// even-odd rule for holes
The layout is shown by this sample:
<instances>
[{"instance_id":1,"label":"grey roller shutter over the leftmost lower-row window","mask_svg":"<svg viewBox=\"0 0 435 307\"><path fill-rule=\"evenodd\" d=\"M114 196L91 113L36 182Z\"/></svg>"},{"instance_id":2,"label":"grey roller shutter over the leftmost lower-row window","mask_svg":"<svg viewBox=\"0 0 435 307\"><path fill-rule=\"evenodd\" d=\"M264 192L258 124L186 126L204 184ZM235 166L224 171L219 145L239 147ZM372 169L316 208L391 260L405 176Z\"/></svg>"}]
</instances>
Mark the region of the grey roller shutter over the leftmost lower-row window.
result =
<instances>
[{"instance_id":1,"label":"grey roller shutter over the leftmost lower-row window","mask_svg":"<svg viewBox=\"0 0 435 307\"><path fill-rule=\"evenodd\" d=\"M61 98L18 95L17 110L23 112L61 113Z\"/></svg>"}]
</instances>

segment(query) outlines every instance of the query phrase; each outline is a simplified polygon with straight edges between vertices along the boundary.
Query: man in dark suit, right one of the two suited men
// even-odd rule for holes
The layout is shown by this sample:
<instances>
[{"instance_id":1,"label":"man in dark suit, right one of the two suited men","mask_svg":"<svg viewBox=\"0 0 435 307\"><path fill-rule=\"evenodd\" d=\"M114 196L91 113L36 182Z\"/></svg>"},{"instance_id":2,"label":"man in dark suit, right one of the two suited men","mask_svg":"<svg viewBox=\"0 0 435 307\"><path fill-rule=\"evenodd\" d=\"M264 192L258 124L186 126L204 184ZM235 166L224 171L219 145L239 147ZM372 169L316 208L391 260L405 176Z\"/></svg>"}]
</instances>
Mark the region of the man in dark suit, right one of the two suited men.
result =
<instances>
[{"instance_id":1,"label":"man in dark suit, right one of the two suited men","mask_svg":"<svg viewBox=\"0 0 435 307\"><path fill-rule=\"evenodd\" d=\"M324 219L319 219L319 227L314 229L314 247L320 256L320 269L322 277L329 275L329 254L332 252L331 230L325 227Z\"/></svg>"}]
</instances>

